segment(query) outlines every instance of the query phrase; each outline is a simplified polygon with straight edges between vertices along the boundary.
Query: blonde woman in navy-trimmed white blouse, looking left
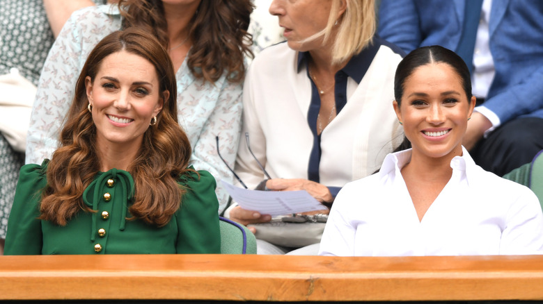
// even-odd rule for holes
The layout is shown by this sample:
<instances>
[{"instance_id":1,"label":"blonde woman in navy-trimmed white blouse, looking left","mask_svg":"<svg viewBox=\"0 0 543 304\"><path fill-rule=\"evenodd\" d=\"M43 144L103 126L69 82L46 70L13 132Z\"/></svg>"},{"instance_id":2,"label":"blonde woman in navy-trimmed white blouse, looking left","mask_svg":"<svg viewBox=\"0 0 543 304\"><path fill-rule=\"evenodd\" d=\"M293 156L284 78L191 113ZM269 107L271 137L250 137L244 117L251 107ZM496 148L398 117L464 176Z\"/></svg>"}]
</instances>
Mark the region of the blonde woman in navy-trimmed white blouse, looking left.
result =
<instances>
[{"instance_id":1,"label":"blonde woman in navy-trimmed white blouse, looking left","mask_svg":"<svg viewBox=\"0 0 543 304\"><path fill-rule=\"evenodd\" d=\"M287 41L263 50L249 68L242 135L249 134L271 177L268 189L305 189L329 206L345 183L378 169L402 139L390 110L402 51L375 36L374 1L274 0L269 12ZM243 138L235 171L249 187L267 178ZM229 211L244 224L271 219ZM262 244L259 253L291 249Z\"/></svg>"}]
</instances>

